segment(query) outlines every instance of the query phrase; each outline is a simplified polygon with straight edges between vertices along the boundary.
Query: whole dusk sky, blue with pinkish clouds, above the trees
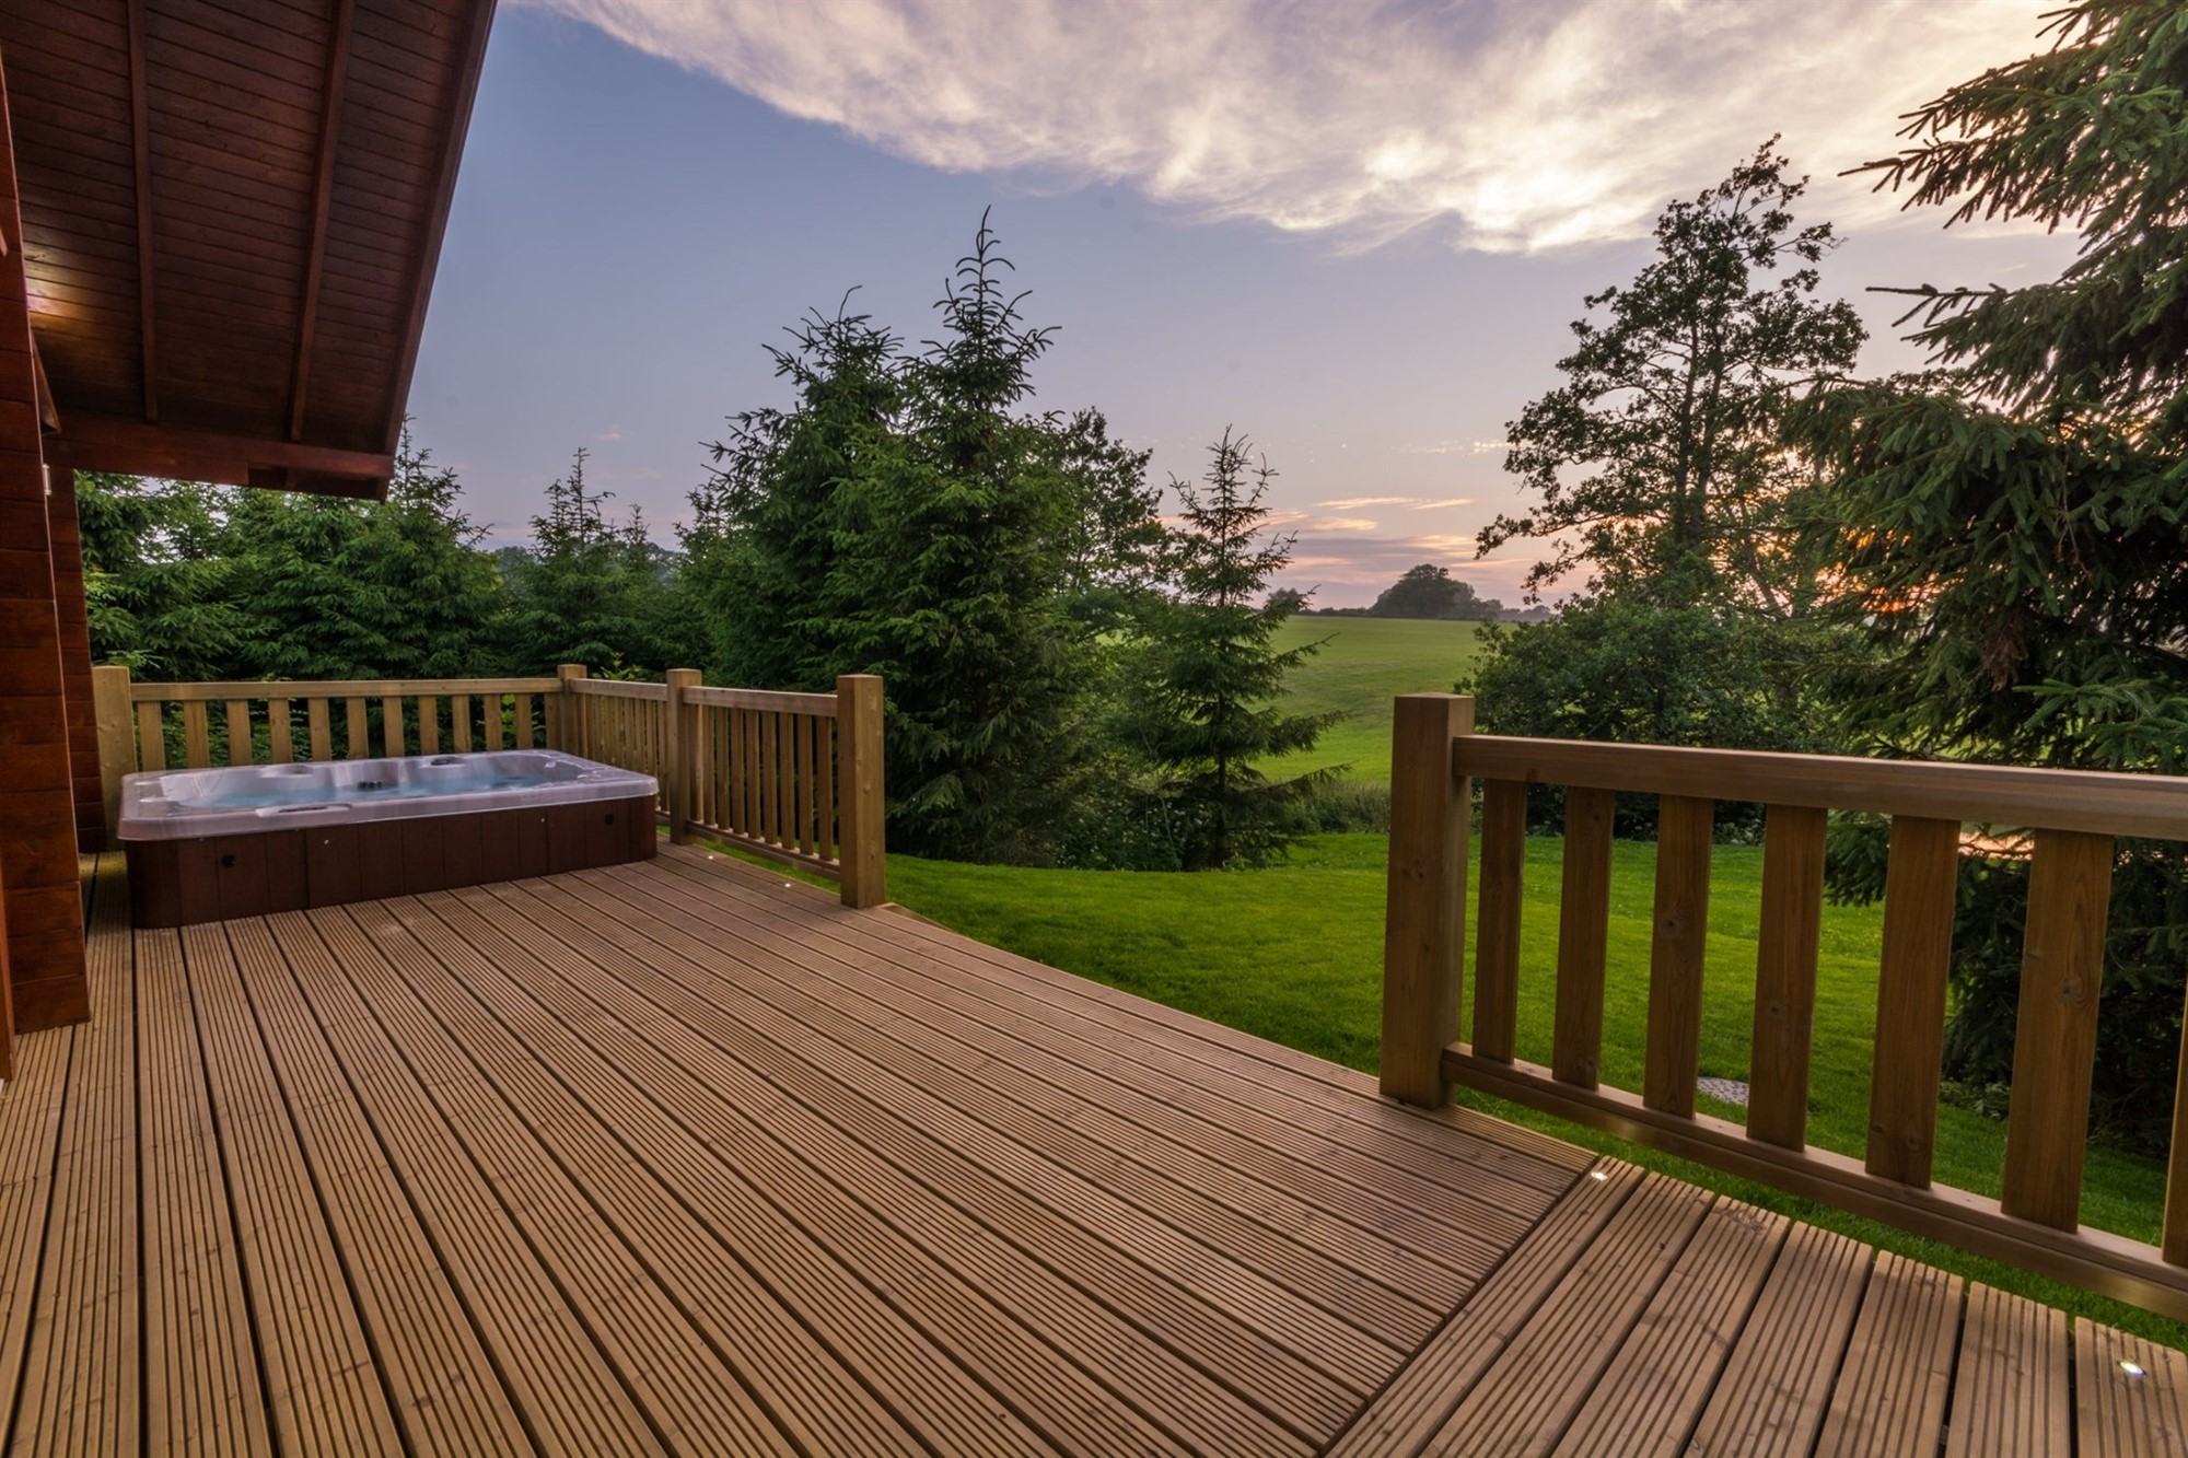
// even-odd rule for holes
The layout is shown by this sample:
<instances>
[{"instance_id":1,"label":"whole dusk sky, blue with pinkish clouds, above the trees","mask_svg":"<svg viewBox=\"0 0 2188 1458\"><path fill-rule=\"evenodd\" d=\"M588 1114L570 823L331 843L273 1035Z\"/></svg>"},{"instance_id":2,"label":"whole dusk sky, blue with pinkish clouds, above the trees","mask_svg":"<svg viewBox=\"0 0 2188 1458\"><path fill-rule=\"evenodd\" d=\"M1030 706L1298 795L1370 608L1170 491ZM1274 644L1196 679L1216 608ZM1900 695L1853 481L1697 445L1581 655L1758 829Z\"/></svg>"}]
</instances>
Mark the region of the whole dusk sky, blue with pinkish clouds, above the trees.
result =
<instances>
[{"instance_id":1,"label":"whole dusk sky, blue with pinkish clouds, above the trees","mask_svg":"<svg viewBox=\"0 0 2188 1458\"><path fill-rule=\"evenodd\" d=\"M674 541L768 344L849 289L915 346L982 210L1057 328L1037 409L1199 477L1243 431L1282 585L1374 600L1521 504L1505 423L1582 298L1772 134L1847 243L1823 291L2050 278L2072 241L1945 230L1838 173L2037 48L2044 0L503 0L409 409L488 541L586 479Z\"/></svg>"}]
</instances>

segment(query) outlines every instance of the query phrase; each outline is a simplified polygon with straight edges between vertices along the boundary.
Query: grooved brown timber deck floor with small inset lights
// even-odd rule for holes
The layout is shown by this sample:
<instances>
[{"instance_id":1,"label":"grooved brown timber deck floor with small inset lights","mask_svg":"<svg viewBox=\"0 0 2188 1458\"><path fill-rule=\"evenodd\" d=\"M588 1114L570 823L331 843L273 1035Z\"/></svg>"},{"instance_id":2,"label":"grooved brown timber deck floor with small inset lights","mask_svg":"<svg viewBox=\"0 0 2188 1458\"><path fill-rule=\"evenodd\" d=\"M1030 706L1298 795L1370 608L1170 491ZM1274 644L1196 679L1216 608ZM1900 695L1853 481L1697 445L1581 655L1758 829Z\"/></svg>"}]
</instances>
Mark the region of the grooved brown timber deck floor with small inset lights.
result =
<instances>
[{"instance_id":1,"label":"grooved brown timber deck floor with small inset lights","mask_svg":"<svg viewBox=\"0 0 2188 1458\"><path fill-rule=\"evenodd\" d=\"M11 1454L2188 1432L2179 1353L694 852L182 933L101 869L0 1095Z\"/></svg>"}]
</instances>

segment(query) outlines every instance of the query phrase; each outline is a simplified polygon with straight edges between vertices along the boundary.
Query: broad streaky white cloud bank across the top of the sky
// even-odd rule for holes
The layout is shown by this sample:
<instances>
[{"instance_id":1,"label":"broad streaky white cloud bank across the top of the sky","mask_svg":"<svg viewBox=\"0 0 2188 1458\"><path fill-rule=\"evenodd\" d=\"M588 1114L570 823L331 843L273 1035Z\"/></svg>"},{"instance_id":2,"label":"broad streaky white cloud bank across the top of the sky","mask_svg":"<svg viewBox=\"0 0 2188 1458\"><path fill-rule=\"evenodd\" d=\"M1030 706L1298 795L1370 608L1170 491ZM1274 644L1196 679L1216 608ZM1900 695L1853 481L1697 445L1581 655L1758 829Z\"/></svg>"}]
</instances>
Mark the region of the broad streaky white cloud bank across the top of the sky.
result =
<instances>
[{"instance_id":1,"label":"broad streaky white cloud bank across the top of the sky","mask_svg":"<svg viewBox=\"0 0 2188 1458\"><path fill-rule=\"evenodd\" d=\"M1645 234L1785 131L1818 180L2037 48L2046 0L523 0L899 158L1370 247ZM1818 182L1818 215L1897 208Z\"/></svg>"}]
</instances>

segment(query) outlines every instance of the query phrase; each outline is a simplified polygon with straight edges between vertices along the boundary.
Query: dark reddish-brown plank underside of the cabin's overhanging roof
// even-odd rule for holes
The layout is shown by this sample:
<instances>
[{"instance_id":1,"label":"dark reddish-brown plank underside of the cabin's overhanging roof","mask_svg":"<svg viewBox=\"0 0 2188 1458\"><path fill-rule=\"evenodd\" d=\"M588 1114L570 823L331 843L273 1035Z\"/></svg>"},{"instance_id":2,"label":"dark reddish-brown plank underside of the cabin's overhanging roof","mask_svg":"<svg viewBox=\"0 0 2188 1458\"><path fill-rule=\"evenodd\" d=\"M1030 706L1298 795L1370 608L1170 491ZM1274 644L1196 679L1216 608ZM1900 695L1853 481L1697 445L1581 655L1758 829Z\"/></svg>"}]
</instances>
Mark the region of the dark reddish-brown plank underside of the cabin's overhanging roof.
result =
<instances>
[{"instance_id":1,"label":"dark reddish-brown plank underside of the cabin's overhanging roof","mask_svg":"<svg viewBox=\"0 0 2188 1458\"><path fill-rule=\"evenodd\" d=\"M48 431L385 490L492 0L0 0Z\"/></svg>"}]
</instances>

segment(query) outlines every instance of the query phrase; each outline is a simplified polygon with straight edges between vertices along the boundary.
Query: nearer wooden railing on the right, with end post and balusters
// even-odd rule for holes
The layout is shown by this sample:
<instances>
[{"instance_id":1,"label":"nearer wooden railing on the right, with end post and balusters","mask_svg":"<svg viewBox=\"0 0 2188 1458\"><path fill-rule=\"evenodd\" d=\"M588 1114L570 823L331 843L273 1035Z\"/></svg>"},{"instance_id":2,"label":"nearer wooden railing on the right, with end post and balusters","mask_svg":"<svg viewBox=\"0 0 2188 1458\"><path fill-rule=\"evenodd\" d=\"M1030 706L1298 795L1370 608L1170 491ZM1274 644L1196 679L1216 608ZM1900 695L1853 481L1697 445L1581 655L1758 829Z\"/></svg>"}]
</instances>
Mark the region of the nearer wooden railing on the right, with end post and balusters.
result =
<instances>
[{"instance_id":1,"label":"nearer wooden railing on the right, with end post and balusters","mask_svg":"<svg viewBox=\"0 0 2188 1458\"><path fill-rule=\"evenodd\" d=\"M1473 1040L1462 1040L1466 860L1481 795ZM1525 797L1567 786L1549 1066L1516 1057ZM1656 902L1641 1090L1604 1088L1610 810L1656 795ZM1696 1112L1711 821L1766 806L1746 1123ZM1807 1143L1825 812L1890 817L1869 1138ZM1932 1184L1952 917L1965 823L2030 832L2013 1103L2000 1197ZM1473 733L1473 701L1398 698L1385 922L1383 1092L1462 1084L1823 1200L1917 1235L2188 1318L2188 1147L2177 1103L2160 1246L2083 1230L2081 1184L2114 836L2188 838L2188 779L1910 764ZM2184 1062L2188 1068L2188 1062Z\"/></svg>"}]
</instances>

